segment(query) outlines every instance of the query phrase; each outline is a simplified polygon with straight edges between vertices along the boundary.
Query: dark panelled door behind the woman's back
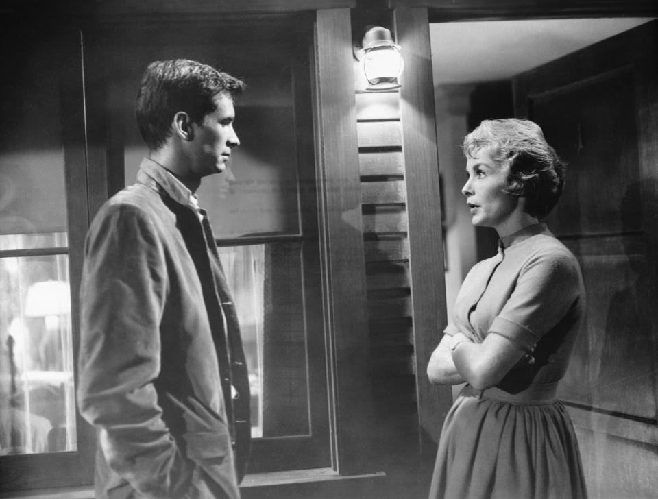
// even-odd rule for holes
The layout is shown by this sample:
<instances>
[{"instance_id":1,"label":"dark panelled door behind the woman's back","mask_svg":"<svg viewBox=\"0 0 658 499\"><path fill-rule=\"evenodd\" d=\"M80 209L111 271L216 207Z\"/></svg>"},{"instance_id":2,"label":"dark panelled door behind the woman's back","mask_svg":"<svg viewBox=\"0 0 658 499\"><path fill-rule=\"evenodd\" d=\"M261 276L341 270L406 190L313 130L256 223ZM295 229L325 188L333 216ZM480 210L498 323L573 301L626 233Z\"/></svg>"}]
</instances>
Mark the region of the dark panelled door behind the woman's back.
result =
<instances>
[{"instance_id":1,"label":"dark panelled door behind the woman's back","mask_svg":"<svg viewBox=\"0 0 658 499\"><path fill-rule=\"evenodd\" d=\"M658 490L656 21L513 81L515 112L568 163L546 222L576 255L587 321L560 396L590 496Z\"/></svg>"}]
</instances>

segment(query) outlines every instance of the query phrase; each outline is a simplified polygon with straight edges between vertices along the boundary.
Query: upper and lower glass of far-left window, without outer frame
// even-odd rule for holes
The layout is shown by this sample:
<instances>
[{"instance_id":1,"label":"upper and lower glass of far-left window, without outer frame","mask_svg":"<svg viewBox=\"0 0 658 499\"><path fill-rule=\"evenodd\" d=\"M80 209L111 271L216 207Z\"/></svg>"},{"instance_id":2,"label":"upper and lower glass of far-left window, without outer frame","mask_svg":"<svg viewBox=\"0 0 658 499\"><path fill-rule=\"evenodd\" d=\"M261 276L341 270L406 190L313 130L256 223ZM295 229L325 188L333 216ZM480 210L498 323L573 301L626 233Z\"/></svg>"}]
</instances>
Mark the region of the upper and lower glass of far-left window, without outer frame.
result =
<instances>
[{"instance_id":1,"label":"upper and lower glass of far-left window, without outer frame","mask_svg":"<svg viewBox=\"0 0 658 499\"><path fill-rule=\"evenodd\" d=\"M41 48L19 66L25 84L2 92L3 112L18 117L0 150L3 455L77 447L61 110L57 87L38 77L56 74Z\"/></svg>"}]
</instances>

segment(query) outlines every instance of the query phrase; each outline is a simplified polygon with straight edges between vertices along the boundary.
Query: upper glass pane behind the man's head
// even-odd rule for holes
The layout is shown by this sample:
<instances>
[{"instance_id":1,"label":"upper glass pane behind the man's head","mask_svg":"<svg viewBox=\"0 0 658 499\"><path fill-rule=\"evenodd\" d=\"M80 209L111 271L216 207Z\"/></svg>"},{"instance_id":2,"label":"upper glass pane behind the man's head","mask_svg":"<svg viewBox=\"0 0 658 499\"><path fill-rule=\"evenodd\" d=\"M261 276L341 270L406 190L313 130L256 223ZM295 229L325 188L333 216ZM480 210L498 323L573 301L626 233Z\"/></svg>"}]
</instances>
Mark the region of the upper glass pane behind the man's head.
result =
<instances>
[{"instance_id":1,"label":"upper glass pane behind the man's head","mask_svg":"<svg viewBox=\"0 0 658 499\"><path fill-rule=\"evenodd\" d=\"M246 82L247 90L238 97L235 106L235 130L240 145L233 149L227 171L202 180L197 192L199 204L208 211L218 238L300 234L297 137L289 57L279 49L262 45L257 49L243 46L221 55L216 50L216 47L188 47L186 57L221 60L223 69ZM159 52L160 60L174 55L166 53L166 47ZM124 141L126 185L135 182L139 164L148 155L135 123L134 106L141 73L152 60L149 56L152 57L150 53L131 53L134 74L130 80L125 78L110 88L112 102L123 108L121 116L125 123L120 133ZM249 60L253 64L245 65Z\"/></svg>"}]
</instances>

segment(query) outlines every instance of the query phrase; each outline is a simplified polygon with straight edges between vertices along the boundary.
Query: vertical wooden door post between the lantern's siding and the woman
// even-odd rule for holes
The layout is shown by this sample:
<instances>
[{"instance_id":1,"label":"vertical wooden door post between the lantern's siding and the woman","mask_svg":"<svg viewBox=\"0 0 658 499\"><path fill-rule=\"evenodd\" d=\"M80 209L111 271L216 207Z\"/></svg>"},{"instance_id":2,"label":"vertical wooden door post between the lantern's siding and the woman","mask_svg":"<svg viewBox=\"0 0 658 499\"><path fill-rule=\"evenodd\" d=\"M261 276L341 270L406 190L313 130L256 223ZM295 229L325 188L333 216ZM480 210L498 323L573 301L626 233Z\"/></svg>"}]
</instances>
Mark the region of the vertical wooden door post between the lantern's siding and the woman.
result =
<instances>
[{"instance_id":1,"label":"vertical wooden door post between the lantern's siding and the woman","mask_svg":"<svg viewBox=\"0 0 658 499\"><path fill-rule=\"evenodd\" d=\"M443 277L443 243L439 199L439 165L434 116L434 88L428 12L426 8L396 8L395 30L404 54L400 88L402 151L409 215L409 261L415 345L415 369L421 455L434 460L441 422L452 405L448 387L437 389L424 375L439 331L448 322Z\"/></svg>"}]
</instances>

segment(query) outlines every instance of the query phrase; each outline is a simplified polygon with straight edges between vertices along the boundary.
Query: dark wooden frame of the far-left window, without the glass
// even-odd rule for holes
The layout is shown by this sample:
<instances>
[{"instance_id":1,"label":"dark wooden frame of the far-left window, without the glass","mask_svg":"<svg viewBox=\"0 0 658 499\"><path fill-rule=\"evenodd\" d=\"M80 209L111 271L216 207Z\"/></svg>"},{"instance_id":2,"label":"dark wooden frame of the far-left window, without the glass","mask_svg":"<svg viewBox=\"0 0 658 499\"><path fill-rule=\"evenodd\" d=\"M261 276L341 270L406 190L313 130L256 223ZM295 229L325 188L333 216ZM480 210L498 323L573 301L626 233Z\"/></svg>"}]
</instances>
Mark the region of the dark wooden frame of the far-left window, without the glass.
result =
<instances>
[{"instance_id":1,"label":"dark wooden frame of the far-left window, without the glass","mask_svg":"<svg viewBox=\"0 0 658 499\"><path fill-rule=\"evenodd\" d=\"M79 346L79 290L77 283L82 274L84 236L88 228L87 176L85 156L84 85L82 81L81 33L77 29L53 32L47 23L34 19L16 21L12 29L40 30L44 39L51 40L58 58L56 84L60 96L62 148L64 151L64 185L66 187L66 219L68 222L67 247L17 249L0 252L8 256L69 256L69 283L71 284L71 330L73 356L77 358ZM25 36L23 32L22 36ZM49 37L49 38L45 38ZM66 112L64 112L66 110ZM77 386L77 365L74 364L74 386ZM95 435L84 422L77 409L77 450L47 454L19 454L0 457L3 470L0 492L45 487L75 487L93 482L93 452ZM38 470L38 472L35 472Z\"/></svg>"}]
</instances>

